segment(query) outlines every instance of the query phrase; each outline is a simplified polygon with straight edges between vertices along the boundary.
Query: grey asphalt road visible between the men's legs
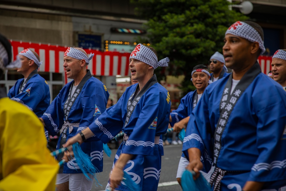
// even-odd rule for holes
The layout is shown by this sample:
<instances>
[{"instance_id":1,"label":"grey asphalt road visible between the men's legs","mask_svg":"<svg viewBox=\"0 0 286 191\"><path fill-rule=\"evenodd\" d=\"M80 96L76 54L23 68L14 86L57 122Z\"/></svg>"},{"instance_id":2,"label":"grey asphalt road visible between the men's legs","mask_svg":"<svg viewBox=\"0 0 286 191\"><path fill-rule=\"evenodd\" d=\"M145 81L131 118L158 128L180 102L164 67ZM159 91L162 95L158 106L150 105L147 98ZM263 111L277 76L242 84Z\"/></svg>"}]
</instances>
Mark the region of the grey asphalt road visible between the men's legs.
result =
<instances>
[{"instance_id":1,"label":"grey asphalt road visible between the men's legs","mask_svg":"<svg viewBox=\"0 0 286 191\"><path fill-rule=\"evenodd\" d=\"M98 185L98 183L94 181L91 191L105 190L115 153L116 149L112 149L110 158L104 153L103 172L97 174L97 180L102 186ZM182 145L164 146L164 156L162 156L162 168L158 191L182 191L176 180L177 168L181 154ZM97 186L95 182L97 183Z\"/></svg>"}]
</instances>

